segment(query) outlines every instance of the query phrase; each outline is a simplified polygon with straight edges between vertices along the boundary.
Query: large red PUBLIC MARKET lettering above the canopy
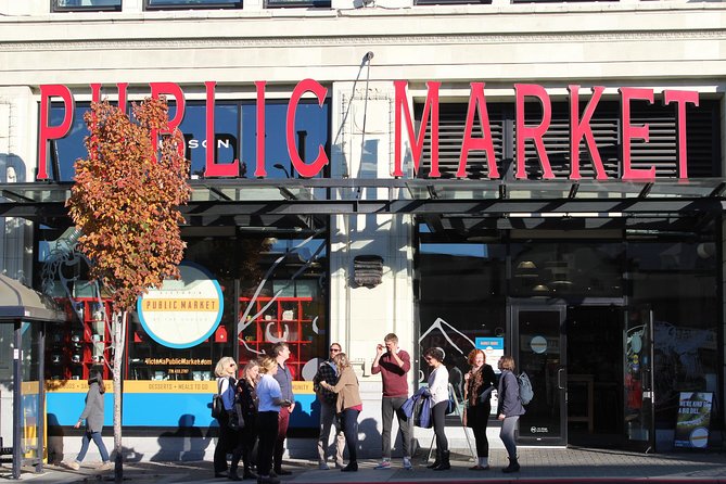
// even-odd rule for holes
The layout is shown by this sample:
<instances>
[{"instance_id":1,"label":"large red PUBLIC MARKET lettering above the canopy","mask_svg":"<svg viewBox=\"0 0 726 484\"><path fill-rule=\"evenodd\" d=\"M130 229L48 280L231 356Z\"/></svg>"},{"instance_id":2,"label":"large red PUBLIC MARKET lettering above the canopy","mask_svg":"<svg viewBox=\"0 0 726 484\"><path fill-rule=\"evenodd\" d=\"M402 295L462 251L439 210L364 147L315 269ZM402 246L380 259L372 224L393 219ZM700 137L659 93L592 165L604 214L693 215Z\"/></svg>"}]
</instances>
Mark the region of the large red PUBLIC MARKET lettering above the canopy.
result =
<instances>
[{"instance_id":1,"label":"large red PUBLIC MARKET lettering above the canopy","mask_svg":"<svg viewBox=\"0 0 726 484\"><path fill-rule=\"evenodd\" d=\"M206 87L206 139L214 139L215 132L215 81L204 82ZM254 176L264 178L267 176L265 169L265 85L266 81L259 80L255 81L257 90L257 104L256 104L256 145L257 145L257 160L256 168ZM459 156L459 167L457 170L457 177L466 178L467 177L467 161L469 152L472 150L480 150L486 152L486 160L488 164L488 177L489 179L500 178L499 170L497 169L497 161L494 154L494 143L492 140L492 129L489 126L488 111L486 107L486 98L484 95L484 82L471 82L471 91L469 94L469 109L467 112L467 122L464 128L463 140L461 142L461 151ZM118 90L118 105L126 105L126 91L128 84L119 82L116 85ZM174 98L176 101L176 115L173 119L169 120L168 131L177 128L181 120L184 117L184 93L177 84L174 82L151 82L151 95L157 98L162 94ZM421 128L416 133L413 127L413 119L411 117L411 110L408 104L407 97L407 87L408 81L406 80L396 80L394 81L395 88L395 163L394 170L391 174L394 177L403 177L403 128L406 126L408 139L411 144L411 154L413 170L418 171L421 155L423 152L423 142L424 135L426 129L431 129L431 170L430 176L432 178L437 178L441 176L438 171L438 89L441 82L430 81L426 84L428 92L426 100L424 103L423 115L421 119ZM595 86L591 88L591 93L589 94L589 100L587 100L587 105L585 106L584 112L579 113L579 86L571 85L568 86L568 91L570 93L570 179L578 180L581 179L579 175L579 144L584 140L585 145L590 154L590 158L596 170L596 179L604 180L608 178L606 175L604 168L602 166L602 161L598 151L598 147L595 142L595 137L593 135L593 128L590 126L590 120L595 110L600 102L602 93L604 92L604 87ZM98 102L101 99L101 85L92 84L91 85L92 100ZM285 142L288 148L288 154L292 161L294 169L302 177L315 177L320 173L320 170L329 163L328 155L326 154L324 148L322 145L318 147L317 157L310 162L306 163L303 161L297 153L295 147L295 113L297 111L297 105L303 95L307 92L315 94L318 100L318 103L322 105L324 102L326 95L328 94L328 89L321 86L318 81L314 79L304 79L301 80L290 97L290 102L288 104L288 113L285 119ZM631 120L631 102L636 101L647 101L649 103L654 102L653 89L647 88L627 88L623 87L619 89L620 101L621 101L621 138L622 138L622 164L623 164L623 179L624 180L647 180L653 179L655 177L655 167L651 166L650 168L634 168L631 162L631 144L634 139L640 139L644 141L649 140L649 127L645 125L634 125ZM515 94L515 130L517 130L517 165L514 176L518 179L526 178L525 170L525 157L524 157L524 143L527 139L534 142L537 155L539 157L539 164L542 165L543 178L550 179L555 178L552 169L549 164L549 158L547 156L547 150L545 149L544 135L549 128L551 120L551 103L549 94L543 86L534 84L515 84L514 85L514 94ZM64 105L64 116L63 122L60 125L51 126L49 107L50 103L56 98L63 102ZM536 126L525 125L524 123L524 103L525 101L535 100L539 102L543 109L543 116ZM677 112L677 137L678 137L678 178L687 179L688 178L688 160L687 160L687 150L686 150L686 106L687 104L693 104L698 106L699 97L697 91L684 91L684 90L671 90L666 89L662 93L662 102L664 104L675 104ZM73 125L74 116L74 106L75 101L71 90L63 85L42 85L40 86L40 136L38 144L38 180L48 179L48 142L53 139L60 139L65 137ZM481 132L481 137L474 137L474 126L476 124L476 131ZM206 165L204 170L204 176L207 178L212 177L235 177L239 174L239 160L234 160L232 163L216 163L214 160L214 149L211 149L208 145L206 148Z\"/></svg>"}]
</instances>

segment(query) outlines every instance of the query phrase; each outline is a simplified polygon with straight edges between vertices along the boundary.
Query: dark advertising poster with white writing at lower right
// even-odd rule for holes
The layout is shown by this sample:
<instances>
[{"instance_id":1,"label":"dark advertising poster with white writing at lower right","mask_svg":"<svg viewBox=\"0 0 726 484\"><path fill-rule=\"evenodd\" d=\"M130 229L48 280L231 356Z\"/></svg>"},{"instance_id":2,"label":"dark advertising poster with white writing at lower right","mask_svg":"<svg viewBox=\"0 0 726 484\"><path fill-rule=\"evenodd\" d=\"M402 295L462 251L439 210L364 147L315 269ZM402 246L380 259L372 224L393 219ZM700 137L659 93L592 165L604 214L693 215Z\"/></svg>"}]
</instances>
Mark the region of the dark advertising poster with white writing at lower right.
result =
<instances>
[{"instance_id":1,"label":"dark advertising poster with white writing at lower right","mask_svg":"<svg viewBox=\"0 0 726 484\"><path fill-rule=\"evenodd\" d=\"M706 448L712 402L711 392L680 392L675 447Z\"/></svg>"}]
</instances>

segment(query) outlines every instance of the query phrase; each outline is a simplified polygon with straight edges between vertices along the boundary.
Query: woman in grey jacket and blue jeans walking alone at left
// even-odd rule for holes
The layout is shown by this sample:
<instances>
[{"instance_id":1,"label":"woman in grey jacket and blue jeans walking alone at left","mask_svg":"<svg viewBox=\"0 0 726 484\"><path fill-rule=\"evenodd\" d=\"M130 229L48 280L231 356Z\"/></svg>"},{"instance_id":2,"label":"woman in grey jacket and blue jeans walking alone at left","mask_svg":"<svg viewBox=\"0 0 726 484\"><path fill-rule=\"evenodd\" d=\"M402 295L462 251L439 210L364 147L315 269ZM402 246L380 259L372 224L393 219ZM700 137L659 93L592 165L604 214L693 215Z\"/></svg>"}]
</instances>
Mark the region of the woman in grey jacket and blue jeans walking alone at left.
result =
<instances>
[{"instance_id":1,"label":"woman in grey jacket and blue jeans walking alone at left","mask_svg":"<svg viewBox=\"0 0 726 484\"><path fill-rule=\"evenodd\" d=\"M88 379L88 393L86 394L86 407L80 413L78 421L74 425L76 429L80 429L81 423L86 420L86 432L84 433L84 438L80 444L80 451L76 457L76 460L68 463L67 467L74 470L80 469L80 462L86 458L86 453L88 451L88 446L91 441L99 448L101 453L101 459L103 462L99 466L99 469L106 470L111 469L113 466L111 460L109 460L109 450L103 444L103 438L101 437L101 431L103 430L103 394L105 393L106 387L103 383L103 378L101 372L98 370L91 371L91 375Z\"/></svg>"}]
</instances>

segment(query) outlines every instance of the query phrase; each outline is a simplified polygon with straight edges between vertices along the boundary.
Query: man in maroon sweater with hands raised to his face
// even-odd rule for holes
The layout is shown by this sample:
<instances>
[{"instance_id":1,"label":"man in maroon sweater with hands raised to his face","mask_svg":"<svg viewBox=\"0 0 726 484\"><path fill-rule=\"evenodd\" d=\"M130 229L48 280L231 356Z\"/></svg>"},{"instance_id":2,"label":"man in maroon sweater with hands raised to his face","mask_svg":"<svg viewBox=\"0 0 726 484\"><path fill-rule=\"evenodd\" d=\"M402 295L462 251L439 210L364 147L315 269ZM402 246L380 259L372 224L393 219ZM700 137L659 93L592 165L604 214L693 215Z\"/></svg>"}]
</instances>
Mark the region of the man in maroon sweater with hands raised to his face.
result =
<instances>
[{"instance_id":1,"label":"man in maroon sweater with hands raised to his face","mask_svg":"<svg viewBox=\"0 0 726 484\"><path fill-rule=\"evenodd\" d=\"M391 428L393 413L398 418L398 430L404 447L404 469L413 470L411 464L411 422L406 418L402 406L408 398L408 370L411 369L411 357L398 347L398 336L389 333L384 339L385 345L379 344L375 348L375 359L371 373L381 373L383 379L383 398L381 400L382 426L382 459L375 469L391 469ZM385 349L385 352L384 352Z\"/></svg>"}]
</instances>

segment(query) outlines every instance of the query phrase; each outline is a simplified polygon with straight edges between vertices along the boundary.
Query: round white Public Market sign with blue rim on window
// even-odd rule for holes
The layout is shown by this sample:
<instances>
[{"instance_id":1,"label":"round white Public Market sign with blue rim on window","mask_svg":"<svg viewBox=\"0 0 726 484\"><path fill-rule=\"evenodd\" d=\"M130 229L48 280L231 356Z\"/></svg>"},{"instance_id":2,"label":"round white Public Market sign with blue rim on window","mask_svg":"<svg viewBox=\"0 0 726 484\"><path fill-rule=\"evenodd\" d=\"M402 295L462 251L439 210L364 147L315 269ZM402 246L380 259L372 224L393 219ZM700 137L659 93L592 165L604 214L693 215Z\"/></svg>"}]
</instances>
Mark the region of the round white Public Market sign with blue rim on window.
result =
<instances>
[{"instance_id":1,"label":"round white Public Market sign with blue rim on window","mask_svg":"<svg viewBox=\"0 0 726 484\"><path fill-rule=\"evenodd\" d=\"M189 348L208 339L219 324L224 300L219 282L201 267L182 263L180 279L167 279L137 303L139 321L158 344Z\"/></svg>"}]
</instances>

